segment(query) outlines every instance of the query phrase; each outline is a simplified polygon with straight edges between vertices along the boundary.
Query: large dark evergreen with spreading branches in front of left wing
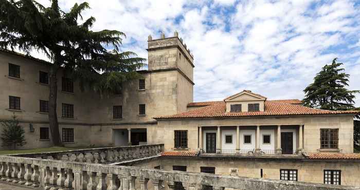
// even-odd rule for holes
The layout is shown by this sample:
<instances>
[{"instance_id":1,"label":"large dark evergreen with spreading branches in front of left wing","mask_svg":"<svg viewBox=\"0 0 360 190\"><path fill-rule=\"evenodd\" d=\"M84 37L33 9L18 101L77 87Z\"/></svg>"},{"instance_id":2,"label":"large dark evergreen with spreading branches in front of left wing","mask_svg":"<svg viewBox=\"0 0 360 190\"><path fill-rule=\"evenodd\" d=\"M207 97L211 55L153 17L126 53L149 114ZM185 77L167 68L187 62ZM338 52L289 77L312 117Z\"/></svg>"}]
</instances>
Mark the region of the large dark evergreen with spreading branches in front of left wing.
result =
<instances>
[{"instance_id":1,"label":"large dark evergreen with spreading branches in front of left wing","mask_svg":"<svg viewBox=\"0 0 360 190\"><path fill-rule=\"evenodd\" d=\"M116 92L124 81L139 77L136 70L145 62L133 52L120 52L124 33L92 31L95 18L83 20L81 15L88 8L85 2L65 12L58 0L51 0L50 7L34 0L0 0L0 47L27 54L42 51L53 63L49 70L49 125L56 146L62 145L56 111L60 69L78 80L82 90L87 86L98 92Z\"/></svg>"}]
</instances>

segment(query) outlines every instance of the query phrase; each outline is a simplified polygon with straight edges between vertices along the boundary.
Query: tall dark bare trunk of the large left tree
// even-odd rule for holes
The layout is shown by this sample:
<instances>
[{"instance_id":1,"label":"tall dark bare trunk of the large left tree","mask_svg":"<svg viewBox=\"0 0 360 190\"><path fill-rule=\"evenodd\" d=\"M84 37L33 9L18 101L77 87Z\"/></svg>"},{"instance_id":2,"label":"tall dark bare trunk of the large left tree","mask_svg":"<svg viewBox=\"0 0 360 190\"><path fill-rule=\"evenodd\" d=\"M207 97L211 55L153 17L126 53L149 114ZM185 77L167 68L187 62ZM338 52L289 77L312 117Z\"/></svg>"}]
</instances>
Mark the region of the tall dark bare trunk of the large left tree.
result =
<instances>
[{"instance_id":1,"label":"tall dark bare trunk of the large left tree","mask_svg":"<svg viewBox=\"0 0 360 190\"><path fill-rule=\"evenodd\" d=\"M55 146L62 146L59 132L58 114L57 114L57 97L58 97L58 73L59 67L56 62L50 67L49 72L49 125L52 143Z\"/></svg>"}]
</instances>

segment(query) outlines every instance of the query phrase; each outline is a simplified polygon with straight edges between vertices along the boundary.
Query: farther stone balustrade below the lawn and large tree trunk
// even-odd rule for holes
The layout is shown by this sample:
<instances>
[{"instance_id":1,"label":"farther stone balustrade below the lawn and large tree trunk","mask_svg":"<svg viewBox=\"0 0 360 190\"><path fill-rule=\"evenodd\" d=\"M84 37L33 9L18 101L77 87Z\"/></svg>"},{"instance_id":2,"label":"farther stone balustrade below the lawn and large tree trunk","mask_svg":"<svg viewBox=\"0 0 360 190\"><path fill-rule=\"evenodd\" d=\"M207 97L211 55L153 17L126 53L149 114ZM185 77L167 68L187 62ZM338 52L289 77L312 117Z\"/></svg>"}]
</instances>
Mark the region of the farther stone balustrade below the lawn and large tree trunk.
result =
<instances>
[{"instance_id":1,"label":"farther stone balustrade below the lawn and large tree trunk","mask_svg":"<svg viewBox=\"0 0 360 190\"><path fill-rule=\"evenodd\" d=\"M111 163L156 156L164 149L164 144L115 146L104 148L88 148L49 153L15 154L11 156L67 160L88 163Z\"/></svg>"}]
</instances>

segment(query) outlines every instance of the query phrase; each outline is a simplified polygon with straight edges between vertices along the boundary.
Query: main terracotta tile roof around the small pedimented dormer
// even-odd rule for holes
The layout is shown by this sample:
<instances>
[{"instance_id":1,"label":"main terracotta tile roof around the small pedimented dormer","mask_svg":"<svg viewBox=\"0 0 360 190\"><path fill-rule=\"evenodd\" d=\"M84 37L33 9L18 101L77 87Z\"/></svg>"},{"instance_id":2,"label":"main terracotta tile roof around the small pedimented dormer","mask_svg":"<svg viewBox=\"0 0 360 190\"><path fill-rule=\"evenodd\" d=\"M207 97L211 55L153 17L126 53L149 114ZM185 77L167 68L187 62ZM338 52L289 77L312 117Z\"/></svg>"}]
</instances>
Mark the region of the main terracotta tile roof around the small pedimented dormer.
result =
<instances>
[{"instance_id":1,"label":"main terracotta tile roof around the small pedimented dormer","mask_svg":"<svg viewBox=\"0 0 360 190\"><path fill-rule=\"evenodd\" d=\"M251 112L226 112L226 103L224 101L194 103L195 105L209 104L204 107L177 113L172 116L159 116L154 119L170 119L170 118L216 118L216 117L249 117L249 116L289 116L289 115L322 115L322 114L356 114L360 111L331 111L323 109L315 109L291 104L286 102L296 102L294 100L275 100L265 101L264 111Z\"/></svg>"}]
</instances>

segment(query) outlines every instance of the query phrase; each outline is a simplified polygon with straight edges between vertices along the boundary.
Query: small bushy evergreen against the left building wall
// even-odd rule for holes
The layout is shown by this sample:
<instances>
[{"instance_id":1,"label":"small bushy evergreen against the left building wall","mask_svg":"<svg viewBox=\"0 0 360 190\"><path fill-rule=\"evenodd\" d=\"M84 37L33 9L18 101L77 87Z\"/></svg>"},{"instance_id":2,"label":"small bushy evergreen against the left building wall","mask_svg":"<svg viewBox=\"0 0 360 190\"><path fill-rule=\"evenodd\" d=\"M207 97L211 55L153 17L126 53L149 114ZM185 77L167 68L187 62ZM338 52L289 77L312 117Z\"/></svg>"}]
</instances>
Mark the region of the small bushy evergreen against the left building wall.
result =
<instances>
[{"instance_id":1,"label":"small bushy evergreen against the left building wall","mask_svg":"<svg viewBox=\"0 0 360 190\"><path fill-rule=\"evenodd\" d=\"M16 149L16 146L26 144L25 130L19 125L19 120L16 119L16 116L13 116L10 121L2 121L1 124L4 126L3 133L1 134L2 146Z\"/></svg>"}]
</instances>

